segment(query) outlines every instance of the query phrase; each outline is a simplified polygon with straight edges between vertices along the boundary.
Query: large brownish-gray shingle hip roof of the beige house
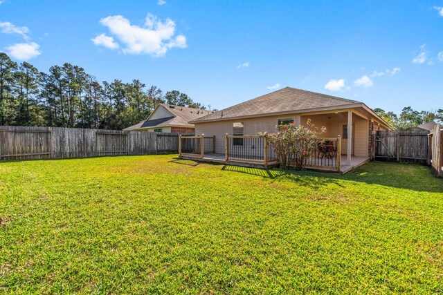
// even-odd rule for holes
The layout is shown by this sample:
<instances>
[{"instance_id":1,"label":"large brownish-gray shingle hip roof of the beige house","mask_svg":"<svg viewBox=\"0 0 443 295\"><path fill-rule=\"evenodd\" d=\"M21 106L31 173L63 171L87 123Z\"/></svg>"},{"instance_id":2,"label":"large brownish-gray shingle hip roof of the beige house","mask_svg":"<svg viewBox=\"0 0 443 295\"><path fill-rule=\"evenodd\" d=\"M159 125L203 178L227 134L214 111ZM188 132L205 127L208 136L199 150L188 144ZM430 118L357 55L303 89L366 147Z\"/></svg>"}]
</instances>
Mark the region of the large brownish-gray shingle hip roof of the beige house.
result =
<instances>
[{"instance_id":1,"label":"large brownish-gray shingle hip roof of the beige house","mask_svg":"<svg viewBox=\"0 0 443 295\"><path fill-rule=\"evenodd\" d=\"M308 110L310 108L323 108L329 106L344 106L346 104L358 104L356 100L344 99L322 93L304 91L301 89L286 87L266 95L230 106L224 110L210 113L192 122L205 122L209 120L224 120L230 117L247 117L281 113L289 111ZM223 113L223 116L221 114Z\"/></svg>"}]
</instances>

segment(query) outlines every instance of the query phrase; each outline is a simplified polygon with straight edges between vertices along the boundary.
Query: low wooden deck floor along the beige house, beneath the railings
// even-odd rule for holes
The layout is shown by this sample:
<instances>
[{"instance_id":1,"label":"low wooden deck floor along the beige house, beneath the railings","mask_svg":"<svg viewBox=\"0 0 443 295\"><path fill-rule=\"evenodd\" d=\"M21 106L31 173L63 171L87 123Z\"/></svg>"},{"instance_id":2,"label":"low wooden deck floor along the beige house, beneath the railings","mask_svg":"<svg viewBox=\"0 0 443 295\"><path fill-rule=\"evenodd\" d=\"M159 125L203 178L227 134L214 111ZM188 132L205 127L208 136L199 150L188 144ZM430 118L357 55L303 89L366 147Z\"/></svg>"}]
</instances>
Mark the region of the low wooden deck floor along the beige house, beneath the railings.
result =
<instances>
[{"instance_id":1,"label":"low wooden deck floor along the beige house, beneath the railings","mask_svg":"<svg viewBox=\"0 0 443 295\"><path fill-rule=\"evenodd\" d=\"M203 158L201 157L195 157L192 155L181 155L180 158L188 159L188 160L195 160L197 162L208 162L208 163L215 163L215 164L226 164L226 165L233 165L233 166L246 166L246 167L253 167L253 168L260 168L260 169L269 169L275 166L276 162L271 162L266 167L263 164L259 163L253 163L253 162L246 162L246 161L235 161L225 160L225 155L221 153L210 153L205 154ZM354 157L352 156L351 164L347 163L346 157L341 157L341 169L339 173L345 174L352 169L359 167L363 164L366 164L370 161L369 157ZM316 166L316 167L309 167L307 166L306 169L308 170L314 170L314 171L327 171L327 172L338 172L336 171L336 167L334 166Z\"/></svg>"}]
</instances>

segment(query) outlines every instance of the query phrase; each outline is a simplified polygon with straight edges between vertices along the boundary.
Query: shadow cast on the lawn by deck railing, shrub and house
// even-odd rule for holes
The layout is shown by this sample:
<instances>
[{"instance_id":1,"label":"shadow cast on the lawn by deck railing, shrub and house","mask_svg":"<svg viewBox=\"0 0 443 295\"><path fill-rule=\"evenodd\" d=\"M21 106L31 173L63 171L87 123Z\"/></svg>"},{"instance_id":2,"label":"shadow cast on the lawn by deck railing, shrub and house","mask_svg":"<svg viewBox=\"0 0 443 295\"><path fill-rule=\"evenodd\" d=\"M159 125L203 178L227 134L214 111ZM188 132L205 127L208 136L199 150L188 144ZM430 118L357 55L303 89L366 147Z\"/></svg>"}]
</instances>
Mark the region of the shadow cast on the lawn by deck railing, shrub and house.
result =
<instances>
[{"instance_id":1,"label":"shadow cast on the lawn by deck railing, shrub and house","mask_svg":"<svg viewBox=\"0 0 443 295\"><path fill-rule=\"evenodd\" d=\"M443 180L435 178L431 169L417 164L370 162L345 175L315 171L293 171L282 169L255 169L224 165L223 171L257 175L271 180L287 180L305 187L319 188L327 184L344 187L346 181L378 184L383 187L443 193Z\"/></svg>"}]
</instances>

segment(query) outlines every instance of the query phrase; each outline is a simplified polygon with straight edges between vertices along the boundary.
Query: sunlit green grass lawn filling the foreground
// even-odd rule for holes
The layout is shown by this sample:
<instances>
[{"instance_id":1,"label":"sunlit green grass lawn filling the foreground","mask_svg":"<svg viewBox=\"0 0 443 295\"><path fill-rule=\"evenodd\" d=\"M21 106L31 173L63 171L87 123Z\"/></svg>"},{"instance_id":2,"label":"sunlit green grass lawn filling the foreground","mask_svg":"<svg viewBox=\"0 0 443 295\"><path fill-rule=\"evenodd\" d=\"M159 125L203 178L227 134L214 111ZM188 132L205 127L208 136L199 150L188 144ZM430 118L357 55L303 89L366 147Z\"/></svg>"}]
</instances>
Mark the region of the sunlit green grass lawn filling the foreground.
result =
<instances>
[{"instance_id":1,"label":"sunlit green grass lawn filling the foreground","mask_svg":"<svg viewBox=\"0 0 443 295\"><path fill-rule=\"evenodd\" d=\"M176 155L0 163L0 293L443 294L443 180Z\"/></svg>"}]
</instances>

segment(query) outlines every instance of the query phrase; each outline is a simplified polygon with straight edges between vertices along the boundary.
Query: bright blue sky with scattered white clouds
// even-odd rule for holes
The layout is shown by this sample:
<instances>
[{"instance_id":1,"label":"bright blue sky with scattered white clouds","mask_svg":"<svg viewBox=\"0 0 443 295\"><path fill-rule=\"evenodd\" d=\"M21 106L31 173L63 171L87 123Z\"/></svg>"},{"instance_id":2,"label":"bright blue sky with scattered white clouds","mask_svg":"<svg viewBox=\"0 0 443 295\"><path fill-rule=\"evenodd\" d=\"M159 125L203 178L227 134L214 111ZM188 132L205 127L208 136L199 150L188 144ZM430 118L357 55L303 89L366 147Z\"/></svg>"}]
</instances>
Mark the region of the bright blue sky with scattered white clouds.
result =
<instances>
[{"instance_id":1,"label":"bright blue sky with scattered white clouds","mask_svg":"<svg viewBox=\"0 0 443 295\"><path fill-rule=\"evenodd\" d=\"M443 0L0 2L0 50L42 71L69 62L219 109L284 86L443 108Z\"/></svg>"}]
</instances>

